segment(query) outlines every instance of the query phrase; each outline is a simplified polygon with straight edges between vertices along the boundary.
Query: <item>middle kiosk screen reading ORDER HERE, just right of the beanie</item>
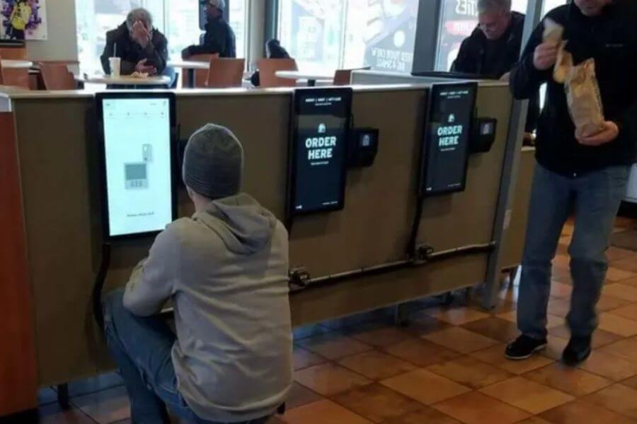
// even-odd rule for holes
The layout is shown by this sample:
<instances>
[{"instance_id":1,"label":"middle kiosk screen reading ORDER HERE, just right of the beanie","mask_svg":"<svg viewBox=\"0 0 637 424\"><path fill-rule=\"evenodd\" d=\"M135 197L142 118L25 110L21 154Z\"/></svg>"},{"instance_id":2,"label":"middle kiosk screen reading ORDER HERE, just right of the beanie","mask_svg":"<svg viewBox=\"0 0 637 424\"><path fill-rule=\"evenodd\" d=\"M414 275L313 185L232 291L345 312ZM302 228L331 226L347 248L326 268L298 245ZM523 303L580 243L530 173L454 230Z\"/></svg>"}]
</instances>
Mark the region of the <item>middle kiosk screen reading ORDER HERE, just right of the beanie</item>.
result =
<instances>
[{"instance_id":1,"label":"middle kiosk screen reading ORDER HERE, just right of the beanie","mask_svg":"<svg viewBox=\"0 0 637 424\"><path fill-rule=\"evenodd\" d=\"M336 211L345 205L351 113L351 88L295 91L288 216Z\"/></svg>"}]
</instances>

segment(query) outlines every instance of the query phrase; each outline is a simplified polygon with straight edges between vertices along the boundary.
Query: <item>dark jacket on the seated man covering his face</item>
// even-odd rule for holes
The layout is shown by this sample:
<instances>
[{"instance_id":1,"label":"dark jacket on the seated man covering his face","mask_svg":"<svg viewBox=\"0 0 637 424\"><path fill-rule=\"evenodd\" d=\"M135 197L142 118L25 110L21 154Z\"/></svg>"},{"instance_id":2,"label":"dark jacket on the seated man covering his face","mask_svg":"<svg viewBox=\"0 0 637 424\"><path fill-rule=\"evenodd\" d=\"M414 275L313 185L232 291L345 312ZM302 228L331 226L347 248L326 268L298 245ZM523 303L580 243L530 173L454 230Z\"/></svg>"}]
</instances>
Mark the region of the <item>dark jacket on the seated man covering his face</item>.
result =
<instances>
[{"instance_id":1,"label":"dark jacket on the seated man covering his face","mask_svg":"<svg viewBox=\"0 0 637 424\"><path fill-rule=\"evenodd\" d=\"M126 23L122 23L117 29L106 33L106 46L100 57L105 73L110 73L108 58L113 57L113 52L116 52L117 57L122 58L122 75L133 73L135 65L142 59L147 59L149 64L156 67L157 73L162 73L168 61L168 40L154 29L151 42L142 49L142 46L130 37Z\"/></svg>"}]
</instances>

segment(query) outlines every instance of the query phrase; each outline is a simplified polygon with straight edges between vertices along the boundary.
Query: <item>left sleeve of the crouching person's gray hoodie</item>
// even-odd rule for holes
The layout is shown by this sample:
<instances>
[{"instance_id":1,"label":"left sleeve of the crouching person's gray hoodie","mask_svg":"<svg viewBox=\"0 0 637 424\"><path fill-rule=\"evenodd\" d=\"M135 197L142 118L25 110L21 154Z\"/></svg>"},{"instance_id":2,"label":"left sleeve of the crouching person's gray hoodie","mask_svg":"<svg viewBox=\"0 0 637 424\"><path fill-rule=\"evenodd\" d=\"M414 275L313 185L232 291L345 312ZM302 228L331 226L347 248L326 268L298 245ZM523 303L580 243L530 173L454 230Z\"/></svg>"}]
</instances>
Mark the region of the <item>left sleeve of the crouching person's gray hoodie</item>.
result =
<instances>
[{"instance_id":1,"label":"left sleeve of the crouching person's gray hoodie","mask_svg":"<svg viewBox=\"0 0 637 424\"><path fill-rule=\"evenodd\" d=\"M169 225L153 243L147 259L141 261L126 284L124 306L135 315L149 317L176 293L180 248Z\"/></svg>"}]
</instances>

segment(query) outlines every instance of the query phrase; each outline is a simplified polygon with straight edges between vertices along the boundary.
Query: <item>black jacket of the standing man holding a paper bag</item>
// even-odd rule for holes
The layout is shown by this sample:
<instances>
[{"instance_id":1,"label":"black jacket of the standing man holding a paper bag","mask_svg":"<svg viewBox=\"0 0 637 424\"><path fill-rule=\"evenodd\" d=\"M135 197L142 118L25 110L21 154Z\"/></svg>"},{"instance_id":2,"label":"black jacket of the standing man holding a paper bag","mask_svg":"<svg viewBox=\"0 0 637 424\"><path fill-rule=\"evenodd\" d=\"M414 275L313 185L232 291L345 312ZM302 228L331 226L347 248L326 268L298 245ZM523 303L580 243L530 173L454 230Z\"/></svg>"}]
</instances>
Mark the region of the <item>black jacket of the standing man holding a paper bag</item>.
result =
<instances>
[{"instance_id":1,"label":"black jacket of the standing man holding a paper bag","mask_svg":"<svg viewBox=\"0 0 637 424\"><path fill-rule=\"evenodd\" d=\"M562 175L575 175L613 165L630 165L637 159L637 2L614 0L602 15L588 18L574 4L561 6L548 16L565 26L566 49L575 64L595 59L604 115L619 125L619 137L604 146L582 146L575 139L564 86L553 81L552 69L538 71L533 54L542 42L544 25L535 29L522 61L511 73L515 98L533 95L547 83L536 140L536 158Z\"/></svg>"}]
</instances>

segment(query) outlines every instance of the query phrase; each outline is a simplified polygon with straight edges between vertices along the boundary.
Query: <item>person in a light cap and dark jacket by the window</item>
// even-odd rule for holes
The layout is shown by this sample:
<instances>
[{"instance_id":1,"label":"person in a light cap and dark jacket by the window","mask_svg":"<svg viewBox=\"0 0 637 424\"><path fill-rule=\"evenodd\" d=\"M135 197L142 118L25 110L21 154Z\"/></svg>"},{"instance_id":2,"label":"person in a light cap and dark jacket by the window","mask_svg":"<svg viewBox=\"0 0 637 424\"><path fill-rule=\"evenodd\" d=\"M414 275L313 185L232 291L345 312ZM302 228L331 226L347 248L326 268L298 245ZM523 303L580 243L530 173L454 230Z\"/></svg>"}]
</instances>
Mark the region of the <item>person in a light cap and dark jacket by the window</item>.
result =
<instances>
[{"instance_id":1,"label":"person in a light cap and dark jacket by the window","mask_svg":"<svg viewBox=\"0 0 637 424\"><path fill-rule=\"evenodd\" d=\"M206 13L206 33L203 44L186 47L181 53L183 59L193 54L219 54L219 57L236 57L236 37L229 23L224 19L224 0L202 0Z\"/></svg>"}]
</instances>

